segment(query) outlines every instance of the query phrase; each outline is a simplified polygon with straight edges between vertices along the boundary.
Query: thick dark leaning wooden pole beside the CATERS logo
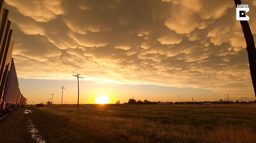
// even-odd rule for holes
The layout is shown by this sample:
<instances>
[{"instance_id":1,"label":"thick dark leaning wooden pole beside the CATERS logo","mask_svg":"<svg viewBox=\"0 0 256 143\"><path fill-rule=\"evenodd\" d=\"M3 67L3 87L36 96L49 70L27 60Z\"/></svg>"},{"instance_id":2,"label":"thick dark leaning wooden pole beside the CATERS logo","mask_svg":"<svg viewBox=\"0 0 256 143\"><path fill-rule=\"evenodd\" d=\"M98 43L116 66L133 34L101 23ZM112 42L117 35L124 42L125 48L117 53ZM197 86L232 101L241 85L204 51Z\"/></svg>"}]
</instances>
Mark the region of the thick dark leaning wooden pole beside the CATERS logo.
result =
<instances>
[{"instance_id":1,"label":"thick dark leaning wooden pole beside the CATERS logo","mask_svg":"<svg viewBox=\"0 0 256 143\"><path fill-rule=\"evenodd\" d=\"M235 7L237 4L241 4L241 0L234 0ZM256 49L254 45L254 39L249 23L247 21L240 21L243 29L244 38L246 42L246 50L248 54L249 68L252 77L252 85L254 89L254 95L256 97Z\"/></svg>"}]
</instances>

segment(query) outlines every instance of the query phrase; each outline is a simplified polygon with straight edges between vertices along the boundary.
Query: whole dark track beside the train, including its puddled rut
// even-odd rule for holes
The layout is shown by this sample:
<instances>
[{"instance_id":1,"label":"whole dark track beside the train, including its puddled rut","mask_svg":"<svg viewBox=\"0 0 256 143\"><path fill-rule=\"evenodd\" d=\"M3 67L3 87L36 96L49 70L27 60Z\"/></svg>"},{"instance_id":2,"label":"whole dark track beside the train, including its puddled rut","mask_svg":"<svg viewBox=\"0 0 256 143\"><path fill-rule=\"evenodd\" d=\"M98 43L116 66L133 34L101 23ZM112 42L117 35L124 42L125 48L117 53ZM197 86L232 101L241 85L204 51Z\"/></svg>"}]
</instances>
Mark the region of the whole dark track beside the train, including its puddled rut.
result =
<instances>
[{"instance_id":1,"label":"whole dark track beside the train, including its puddled rut","mask_svg":"<svg viewBox=\"0 0 256 143\"><path fill-rule=\"evenodd\" d=\"M23 107L0 120L0 143L111 143L68 118Z\"/></svg>"}]
</instances>

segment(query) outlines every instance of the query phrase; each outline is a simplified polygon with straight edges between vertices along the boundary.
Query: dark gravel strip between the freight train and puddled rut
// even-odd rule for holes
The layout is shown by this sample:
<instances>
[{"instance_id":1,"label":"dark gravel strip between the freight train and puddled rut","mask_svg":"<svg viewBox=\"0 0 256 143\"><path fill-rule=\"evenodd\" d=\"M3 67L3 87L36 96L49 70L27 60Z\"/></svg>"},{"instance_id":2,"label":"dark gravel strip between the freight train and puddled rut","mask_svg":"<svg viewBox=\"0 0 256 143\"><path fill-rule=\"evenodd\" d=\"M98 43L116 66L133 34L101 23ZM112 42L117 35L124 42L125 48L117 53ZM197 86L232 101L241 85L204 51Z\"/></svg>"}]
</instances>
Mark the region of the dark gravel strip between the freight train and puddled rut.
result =
<instances>
[{"instance_id":1,"label":"dark gravel strip between the freight train and puddled rut","mask_svg":"<svg viewBox=\"0 0 256 143\"><path fill-rule=\"evenodd\" d=\"M22 107L0 120L0 143L35 143L27 131L28 115Z\"/></svg>"}]
</instances>

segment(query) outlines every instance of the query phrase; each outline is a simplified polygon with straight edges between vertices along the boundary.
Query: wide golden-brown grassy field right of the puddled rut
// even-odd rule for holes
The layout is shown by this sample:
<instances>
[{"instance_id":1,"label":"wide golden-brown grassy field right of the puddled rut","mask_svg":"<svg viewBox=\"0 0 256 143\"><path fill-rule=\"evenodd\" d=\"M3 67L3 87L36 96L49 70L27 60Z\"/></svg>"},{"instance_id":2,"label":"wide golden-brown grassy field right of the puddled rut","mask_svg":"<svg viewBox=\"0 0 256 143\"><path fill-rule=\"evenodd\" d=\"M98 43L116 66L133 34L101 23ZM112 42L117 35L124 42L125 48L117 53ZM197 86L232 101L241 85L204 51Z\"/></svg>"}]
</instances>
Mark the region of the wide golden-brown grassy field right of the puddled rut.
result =
<instances>
[{"instance_id":1,"label":"wide golden-brown grassy field right of the puddled rut","mask_svg":"<svg viewBox=\"0 0 256 143\"><path fill-rule=\"evenodd\" d=\"M90 104L80 105L79 110L76 105L29 109L35 110L30 116L48 142L256 142L256 104Z\"/></svg>"}]
</instances>

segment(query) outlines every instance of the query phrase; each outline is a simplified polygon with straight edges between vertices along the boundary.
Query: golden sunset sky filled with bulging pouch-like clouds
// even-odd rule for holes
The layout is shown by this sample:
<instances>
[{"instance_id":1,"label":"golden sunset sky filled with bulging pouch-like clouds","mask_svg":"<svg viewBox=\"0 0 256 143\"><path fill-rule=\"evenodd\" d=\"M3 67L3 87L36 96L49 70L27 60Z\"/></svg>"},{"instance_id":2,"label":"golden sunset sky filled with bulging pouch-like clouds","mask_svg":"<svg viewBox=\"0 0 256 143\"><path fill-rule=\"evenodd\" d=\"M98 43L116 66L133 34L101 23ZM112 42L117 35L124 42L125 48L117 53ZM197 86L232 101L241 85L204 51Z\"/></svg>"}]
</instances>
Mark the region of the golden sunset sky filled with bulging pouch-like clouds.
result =
<instances>
[{"instance_id":1,"label":"golden sunset sky filled with bulging pouch-like clouds","mask_svg":"<svg viewBox=\"0 0 256 143\"><path fill-rule=\"evenodd\" d=\"M5 0L28 103L254 100L233 0ZM256 0L249 4L256 27ZM254 36L256 28L254 30ZM58 100L57 100L58 99Z\"/></svg>"}]
</instances>

